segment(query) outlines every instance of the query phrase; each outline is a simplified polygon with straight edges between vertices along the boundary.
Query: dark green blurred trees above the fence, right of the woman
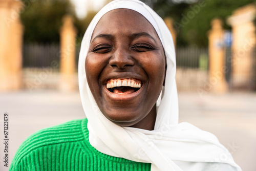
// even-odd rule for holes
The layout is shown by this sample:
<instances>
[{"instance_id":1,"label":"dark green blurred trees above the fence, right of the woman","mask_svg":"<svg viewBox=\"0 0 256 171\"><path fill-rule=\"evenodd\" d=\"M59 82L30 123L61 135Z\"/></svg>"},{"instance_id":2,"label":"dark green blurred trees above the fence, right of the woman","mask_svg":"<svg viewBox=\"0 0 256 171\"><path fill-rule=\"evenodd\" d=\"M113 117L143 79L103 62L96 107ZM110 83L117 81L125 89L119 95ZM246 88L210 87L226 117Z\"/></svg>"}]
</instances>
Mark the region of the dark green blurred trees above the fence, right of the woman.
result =
<instances>
[{"instance_id":1,"label":"dark green blurred trees above the fence, right of the woman","mask_svg":"<svg viewBox=\"0 0 256 171\"><path fill-rule=\"evenodd\" d=\"M207 31L210 30L210 21L213 18L221 18L223 27L230 29L226 24L226 18L239 7L255 2L255 0L200 0L197 3L187 3L189 1L172 0L142 0L151 6L161 17L174 18L175 28L178 32L177 46L199 46L205 47L208 44ZM204 4L195 13L195 8L199 3ZM194 16L192 14L194 12ZM189 17L188 17L189 16ZM186 17L188 22L184 22ZM182 20L183 19L183 20Z\"/></svg>"}]
</instances>

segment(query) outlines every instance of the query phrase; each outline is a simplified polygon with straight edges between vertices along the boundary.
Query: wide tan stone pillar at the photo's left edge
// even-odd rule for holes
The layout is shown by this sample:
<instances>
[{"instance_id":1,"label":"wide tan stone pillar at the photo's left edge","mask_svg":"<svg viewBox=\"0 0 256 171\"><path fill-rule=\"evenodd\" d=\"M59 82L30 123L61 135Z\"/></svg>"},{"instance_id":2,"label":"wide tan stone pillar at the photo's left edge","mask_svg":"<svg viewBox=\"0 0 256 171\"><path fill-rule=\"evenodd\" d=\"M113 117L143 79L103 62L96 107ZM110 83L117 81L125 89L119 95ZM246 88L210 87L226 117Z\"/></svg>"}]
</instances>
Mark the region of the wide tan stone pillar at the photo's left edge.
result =
<instances>
[{"instance_id":1,"label":"wide tan stone pillar at the photo's left edge","mask_svg":"<svg viewBox=\"0 0 256 171\"><path fill-rule=\"evenodd\" d=\"M23 26L19 11L23 3L15 0L0 0L0 91L22 88Z\"/></svg>"}]
</instances>

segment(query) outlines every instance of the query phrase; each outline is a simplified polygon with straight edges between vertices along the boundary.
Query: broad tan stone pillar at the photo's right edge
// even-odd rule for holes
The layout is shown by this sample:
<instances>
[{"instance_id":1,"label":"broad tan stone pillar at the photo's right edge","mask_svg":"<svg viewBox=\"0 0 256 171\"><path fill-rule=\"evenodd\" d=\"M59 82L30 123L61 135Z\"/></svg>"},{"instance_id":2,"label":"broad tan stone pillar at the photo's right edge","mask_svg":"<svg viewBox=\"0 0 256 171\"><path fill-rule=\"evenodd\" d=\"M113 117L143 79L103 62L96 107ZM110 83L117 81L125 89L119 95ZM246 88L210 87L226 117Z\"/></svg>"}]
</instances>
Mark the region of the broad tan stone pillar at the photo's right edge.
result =
<instances>
[{"instance_id":1,"label":"broad tan stone pillar at the photo's right edge","mask_svg":"<svg viewBox=\"0 0 256 171\"><path fill-rule=\"evenodd\" d=\"M253 19L255 4L235 10L227 19L232 27L232 85L234 88L247 88L253 77L252 52L256 44Z\"/></svg>"}]
</instances>

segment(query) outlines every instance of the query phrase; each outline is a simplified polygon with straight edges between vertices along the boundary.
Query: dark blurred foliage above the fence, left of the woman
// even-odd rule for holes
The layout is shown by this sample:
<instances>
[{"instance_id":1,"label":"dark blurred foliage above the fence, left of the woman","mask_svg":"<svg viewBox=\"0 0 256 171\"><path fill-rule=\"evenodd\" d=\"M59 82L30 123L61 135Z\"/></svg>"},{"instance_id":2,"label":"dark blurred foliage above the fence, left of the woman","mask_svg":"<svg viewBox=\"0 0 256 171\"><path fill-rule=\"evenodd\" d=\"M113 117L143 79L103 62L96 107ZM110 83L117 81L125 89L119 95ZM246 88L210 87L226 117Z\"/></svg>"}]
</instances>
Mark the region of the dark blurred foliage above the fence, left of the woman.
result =
<instances>
[{"instance_id":1,"label":"dark blurred foliage above the fence, left of the woman","mask_svg":"<svg viewBox=\"0 0 256 171\"><path fill-rule=\"evenodd\" d=\"M62 17L66 14L75 17L74 7L68 0L22 1L25 11L20 18L25 26L25 42L59 42Z\"/></svg>"}]
</instances>

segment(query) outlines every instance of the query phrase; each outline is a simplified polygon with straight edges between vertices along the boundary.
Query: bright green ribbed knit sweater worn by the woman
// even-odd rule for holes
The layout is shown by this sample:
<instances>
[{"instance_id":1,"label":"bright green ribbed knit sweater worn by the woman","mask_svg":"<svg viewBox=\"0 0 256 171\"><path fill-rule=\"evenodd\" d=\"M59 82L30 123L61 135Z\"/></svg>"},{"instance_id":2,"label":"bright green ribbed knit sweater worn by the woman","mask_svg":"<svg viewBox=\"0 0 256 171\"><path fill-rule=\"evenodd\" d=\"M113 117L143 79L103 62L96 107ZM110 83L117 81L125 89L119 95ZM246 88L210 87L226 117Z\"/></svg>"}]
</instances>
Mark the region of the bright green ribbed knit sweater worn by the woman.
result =
<instances>
[{"instance_id":1,"label":"bright green ribbed knit sweater worn by the woman","mask_svg":"<svg viewBox=\"0 0 256 171\"><path fill-rule=\"evenodd\" d=\"M18 149L11 171L150 170L139 163L100 153L89 143L87 119L73 120L30 136Z\"/></svg>"}]
</instances>

